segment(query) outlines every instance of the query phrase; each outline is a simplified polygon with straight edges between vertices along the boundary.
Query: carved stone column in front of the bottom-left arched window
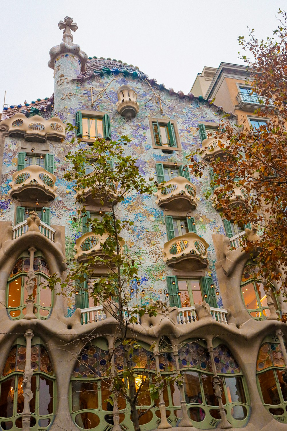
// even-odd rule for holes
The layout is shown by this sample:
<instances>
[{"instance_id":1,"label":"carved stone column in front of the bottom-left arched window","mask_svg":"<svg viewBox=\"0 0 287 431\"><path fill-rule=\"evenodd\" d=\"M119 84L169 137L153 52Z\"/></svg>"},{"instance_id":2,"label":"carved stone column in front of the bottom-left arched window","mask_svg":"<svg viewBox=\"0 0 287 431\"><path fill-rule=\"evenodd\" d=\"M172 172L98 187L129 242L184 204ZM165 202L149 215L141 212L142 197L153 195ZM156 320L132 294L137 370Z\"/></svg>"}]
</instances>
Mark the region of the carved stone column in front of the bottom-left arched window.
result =
<instances>
[{"instance_id":1,"label":"carved stone column in front of the bottom-left arched window","mask_svg":"<svg viewBox=\"0 0 287 431\"><path fill-rule=\"evenodd\" d=\"M22 431L30 430L31 422L31 411L30 411L30 401L33 398L33 392L31 391L31 377L33 370L31 369L31 340L34 337L33 331L27 329L24 334L26 338L26 365L23 374L23 397L24 397L24 407L22 412Z\"/></svg>"}]
</instances>

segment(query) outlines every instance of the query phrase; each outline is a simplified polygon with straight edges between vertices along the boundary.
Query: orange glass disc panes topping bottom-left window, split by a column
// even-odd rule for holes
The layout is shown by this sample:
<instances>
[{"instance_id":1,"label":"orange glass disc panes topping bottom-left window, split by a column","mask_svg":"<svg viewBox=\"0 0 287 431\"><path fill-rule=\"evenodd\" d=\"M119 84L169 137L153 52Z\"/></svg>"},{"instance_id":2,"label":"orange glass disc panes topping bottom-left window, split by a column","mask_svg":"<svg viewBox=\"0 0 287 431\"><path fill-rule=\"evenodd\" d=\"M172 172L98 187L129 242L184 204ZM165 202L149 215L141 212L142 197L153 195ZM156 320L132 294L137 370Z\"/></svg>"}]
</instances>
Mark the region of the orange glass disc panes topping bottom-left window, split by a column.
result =
<instances>
[{"instance_id":1,"label":"orange glass disc panes topping bottom-left window, split by a column","mask_svg":"<svg viewBox=\"0 0 287 431\"><path fill-rule=\"evenodd\" d=\"M6 360L3 376L12 372L24 372L26 365L26 347L14 346ZM34 372L41 371L53 375L52 364L45 347L37 344L31 347L31 368Z\"/></svg>"}]
</instances>

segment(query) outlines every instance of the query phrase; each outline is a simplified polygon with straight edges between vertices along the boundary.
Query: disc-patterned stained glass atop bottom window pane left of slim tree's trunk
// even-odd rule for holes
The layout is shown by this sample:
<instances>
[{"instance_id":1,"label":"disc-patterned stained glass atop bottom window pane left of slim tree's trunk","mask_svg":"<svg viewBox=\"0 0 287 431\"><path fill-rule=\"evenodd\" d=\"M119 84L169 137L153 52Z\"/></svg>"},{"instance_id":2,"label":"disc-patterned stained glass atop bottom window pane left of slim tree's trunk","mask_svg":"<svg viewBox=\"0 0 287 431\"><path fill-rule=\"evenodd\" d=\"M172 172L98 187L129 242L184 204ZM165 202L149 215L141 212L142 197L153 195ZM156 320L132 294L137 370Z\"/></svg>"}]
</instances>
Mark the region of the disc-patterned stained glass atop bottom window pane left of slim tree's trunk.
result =
<instances>
[{"instance_id":1,"label":"disc-patterned stained glass atop bottom window pane left of slim tree's trunk","mask_svg":"<svg viewBox=\"0 0 287 431\"><path fill-rule=\"evenodd\" d=\"M90 346L81 351L72 376L78 378L103 377L110 365L111 359L108 351Z\"/></svg>"}]
</instances>

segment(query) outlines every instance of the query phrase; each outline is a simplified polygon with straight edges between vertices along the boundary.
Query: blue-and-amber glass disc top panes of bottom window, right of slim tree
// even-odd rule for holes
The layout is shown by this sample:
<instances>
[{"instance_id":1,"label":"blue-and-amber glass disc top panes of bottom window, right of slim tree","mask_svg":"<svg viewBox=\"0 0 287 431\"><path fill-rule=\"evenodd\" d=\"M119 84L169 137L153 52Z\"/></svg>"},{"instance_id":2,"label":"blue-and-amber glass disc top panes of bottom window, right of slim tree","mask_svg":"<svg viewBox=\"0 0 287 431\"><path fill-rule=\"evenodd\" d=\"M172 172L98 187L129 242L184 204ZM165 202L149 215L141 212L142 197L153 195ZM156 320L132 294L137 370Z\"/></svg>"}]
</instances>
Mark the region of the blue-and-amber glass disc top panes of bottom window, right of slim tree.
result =
<instances>
[{"instance_id":1,"label":"blue-and-amber glass disc top panes of bottom window, right of slim tree","mask_svg":"<svg viewBox=\"0 0 287 431\"><path fill-rule=\"evenodd\" d=\"M219 373L238 373L240 368L230 351L223 344L213 349L216 370ZM212 372L210 354L207 348L198 343L185 344L179 350L180 368L198 368L202 371Z\"/></svg>"}]
</instances>

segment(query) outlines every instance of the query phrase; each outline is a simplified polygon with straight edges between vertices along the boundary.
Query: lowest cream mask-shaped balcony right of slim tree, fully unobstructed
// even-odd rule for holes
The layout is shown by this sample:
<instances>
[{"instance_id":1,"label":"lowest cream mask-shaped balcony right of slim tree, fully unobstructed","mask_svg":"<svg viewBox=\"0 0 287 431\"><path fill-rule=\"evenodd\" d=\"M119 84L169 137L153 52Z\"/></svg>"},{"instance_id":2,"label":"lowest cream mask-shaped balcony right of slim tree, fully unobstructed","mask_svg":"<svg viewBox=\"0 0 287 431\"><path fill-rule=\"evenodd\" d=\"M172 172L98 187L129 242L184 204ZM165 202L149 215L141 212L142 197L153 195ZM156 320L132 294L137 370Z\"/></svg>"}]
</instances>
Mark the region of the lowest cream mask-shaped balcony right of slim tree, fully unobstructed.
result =
<instances>
[{"instance_id":1,"label":"lowest cream mask-shaped balcony right of slim tree, fully unobstructed","mask_svg":"<svg viewBox=\"0 0 287 431\"><path fill-rule=\"evenodd\" d=\"M185 271L206 268L208 247L206 240L194 232L188 232L164 244L164 262L174 269Z\"/></svg>"}]
</instances>

